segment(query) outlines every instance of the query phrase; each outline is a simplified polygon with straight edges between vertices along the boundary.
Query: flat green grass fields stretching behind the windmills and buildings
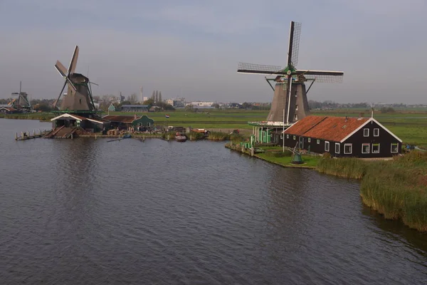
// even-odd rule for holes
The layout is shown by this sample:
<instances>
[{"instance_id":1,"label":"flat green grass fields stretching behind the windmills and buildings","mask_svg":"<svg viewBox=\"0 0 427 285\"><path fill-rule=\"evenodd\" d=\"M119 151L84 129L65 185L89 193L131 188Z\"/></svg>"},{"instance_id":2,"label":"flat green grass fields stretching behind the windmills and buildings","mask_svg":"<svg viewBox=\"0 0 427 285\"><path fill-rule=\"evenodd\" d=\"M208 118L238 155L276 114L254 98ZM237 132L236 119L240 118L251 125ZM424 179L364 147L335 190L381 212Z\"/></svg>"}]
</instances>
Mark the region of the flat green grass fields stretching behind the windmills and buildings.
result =
<instances>
[{"instance_id":1,"label":"flat green grass fields stretching behind the windmills and buildings","mask_svg":"<svg viewBox=\"0 0 427 285\"><path fill-rule=\"evenodd\" d=\"M370 116L369 110L364 109L340 109L327 111L313 111L312 115L349 116L357 117L363 113L365 117ZM133 113L112 112L110 115L133 115ZM174 125L191 128L207 128L230 133L231 130L251 130L248 122L262 121L267 118L268 110L217 110L206 109L198 113L186 110L175 110L170 112L139 113L153 118L155 125ZM165 115L169 118L165 118ZM102 115L107 115L102 114ZM16 119L38 119L49 120L53 118L51 113L32 113L20 115L0 115L5 118ZM396 134L404 143L418 145L427 148L427 110L401 109L394 113L374 113L374 118L386 128Z\"/></svg>"}]
</instances>

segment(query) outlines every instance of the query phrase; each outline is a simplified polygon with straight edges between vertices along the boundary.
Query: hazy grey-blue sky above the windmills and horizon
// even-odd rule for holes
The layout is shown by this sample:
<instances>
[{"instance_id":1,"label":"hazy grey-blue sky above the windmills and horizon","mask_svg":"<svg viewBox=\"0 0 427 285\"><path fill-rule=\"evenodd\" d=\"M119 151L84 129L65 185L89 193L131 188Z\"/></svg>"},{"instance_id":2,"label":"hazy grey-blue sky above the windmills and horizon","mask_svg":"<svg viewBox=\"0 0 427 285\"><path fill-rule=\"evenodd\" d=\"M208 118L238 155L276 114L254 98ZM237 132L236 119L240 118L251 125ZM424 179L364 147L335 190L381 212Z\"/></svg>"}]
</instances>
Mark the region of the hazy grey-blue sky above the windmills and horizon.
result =
<instances>
[{"instance_id":1,"label":"hazy grey-blue sky above the windmills and horizon","mask_svg":"<svg viewBox=\"0 0 427 285\"><path fill-rule=\"evenodd\" d=\"M426 0L0 0L0 98L57 98L76 72L93 95L270 102L264 76L238 62L285 66L290 21L302 23L297 68L344 71L309 100L427 103Z\"/></svg>"}]
</instances>

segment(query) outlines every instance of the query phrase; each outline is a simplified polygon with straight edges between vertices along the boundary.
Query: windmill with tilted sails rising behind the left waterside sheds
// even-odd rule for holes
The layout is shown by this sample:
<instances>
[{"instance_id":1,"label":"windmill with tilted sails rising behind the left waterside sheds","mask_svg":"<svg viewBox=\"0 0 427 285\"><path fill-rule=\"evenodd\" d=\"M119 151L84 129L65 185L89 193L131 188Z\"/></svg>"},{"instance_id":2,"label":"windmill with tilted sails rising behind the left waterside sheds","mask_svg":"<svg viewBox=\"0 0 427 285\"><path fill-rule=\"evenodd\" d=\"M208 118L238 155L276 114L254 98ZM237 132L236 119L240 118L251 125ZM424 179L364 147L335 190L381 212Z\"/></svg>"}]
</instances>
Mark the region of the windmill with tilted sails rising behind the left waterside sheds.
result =
<instances>
[{"instance_id":1,"label":"windmill with tilted sails rising behind the left waterside sheds","mask_svg":"<svg viewBox=\"0 0 427 285\"><path fill-rule=\"evenodd\" d=\"M83 76L81 73L74 72L75 66L77 66L78 52L79 48L75 46L68 69L60 61L56 61L55 68L64 78L65 82L53 107L56 108L60 102L60 111L62 112L97 113L95 104L93 103L89 78ZM66 94L63 94L63 90L67 85L68 91ZM63 99L60 101L61 96Z\"/></svg>"}]
</instances>

